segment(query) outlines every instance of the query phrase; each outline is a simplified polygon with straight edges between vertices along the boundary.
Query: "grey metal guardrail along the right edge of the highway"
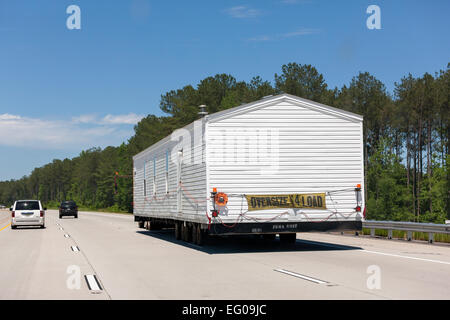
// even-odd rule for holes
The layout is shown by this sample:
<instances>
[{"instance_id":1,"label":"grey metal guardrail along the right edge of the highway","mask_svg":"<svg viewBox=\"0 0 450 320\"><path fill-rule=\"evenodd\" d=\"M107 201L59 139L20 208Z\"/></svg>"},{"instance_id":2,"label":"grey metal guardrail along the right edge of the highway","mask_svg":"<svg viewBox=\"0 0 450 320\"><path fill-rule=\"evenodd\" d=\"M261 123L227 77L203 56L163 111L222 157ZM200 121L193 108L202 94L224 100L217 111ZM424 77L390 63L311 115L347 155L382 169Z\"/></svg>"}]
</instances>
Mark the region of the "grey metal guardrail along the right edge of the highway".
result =
<instances>
[{"instance_id":1,"label":"grey metal guardrail along the right edge of the highway","mask_svg":"<svg viewBox=\"0 0 450 320\"><path fill-rule=\"evenodd\" d=\"M388 239L392 239L392 231L406 231L408 241L413 238L413 232L428 233L428 242L434 242L434 234L450 234L449 224L435 223L417 223L417 222L401 222L401 221L363 221L363 228L370 229L370 236L375 236L375 229L388 231Z\"/></svg>"}]
</instances>

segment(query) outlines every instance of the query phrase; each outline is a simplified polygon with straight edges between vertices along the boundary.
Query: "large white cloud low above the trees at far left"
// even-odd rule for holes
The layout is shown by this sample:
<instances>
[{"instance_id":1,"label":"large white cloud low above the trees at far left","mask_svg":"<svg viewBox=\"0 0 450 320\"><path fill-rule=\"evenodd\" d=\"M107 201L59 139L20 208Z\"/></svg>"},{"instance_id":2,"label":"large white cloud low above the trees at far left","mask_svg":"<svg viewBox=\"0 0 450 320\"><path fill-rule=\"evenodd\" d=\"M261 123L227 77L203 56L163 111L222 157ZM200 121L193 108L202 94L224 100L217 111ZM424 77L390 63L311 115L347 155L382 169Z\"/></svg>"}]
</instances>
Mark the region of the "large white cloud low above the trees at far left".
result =
<instances>
[{"instance_id":1,"label":"large white cloud low above the trees at far left","mask_svg":"<svg viewBox=\"0 0 450 320\"><path fill-rule=\"evenodd\" d=\"M0 145L58 150L118 145L132 134L121 125L135 124L140 118L129 114L96 120L86 115L64 121L5 113L0 114Z\"/></svg>"}]
</instances>

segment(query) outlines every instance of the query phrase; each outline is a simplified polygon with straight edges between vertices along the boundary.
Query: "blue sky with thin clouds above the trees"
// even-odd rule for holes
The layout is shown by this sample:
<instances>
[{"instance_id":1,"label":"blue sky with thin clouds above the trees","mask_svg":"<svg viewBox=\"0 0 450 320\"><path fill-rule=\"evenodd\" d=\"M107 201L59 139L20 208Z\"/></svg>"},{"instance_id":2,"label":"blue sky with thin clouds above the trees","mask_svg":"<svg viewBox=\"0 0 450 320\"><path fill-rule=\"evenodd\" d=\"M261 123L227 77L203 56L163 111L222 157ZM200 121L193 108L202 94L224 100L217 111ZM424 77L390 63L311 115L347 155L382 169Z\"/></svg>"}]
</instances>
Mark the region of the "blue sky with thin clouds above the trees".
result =
<instances>
[{"instance_id":1,"label":"blue sky with thin clouds above the trees","mask_svg":"<svg viewBox=\"0 0 450 320\"><path fill-rule=\"evenodd\" d=\"M69 30L69 5L81 30ZM369 30L366 8L381 9ZM216 73L273 81L312 64L329 86L369 71L392 91L450 61L450 2L0 0L0 180L120 145L161 94Z\"/></svg>"}]
</instances>

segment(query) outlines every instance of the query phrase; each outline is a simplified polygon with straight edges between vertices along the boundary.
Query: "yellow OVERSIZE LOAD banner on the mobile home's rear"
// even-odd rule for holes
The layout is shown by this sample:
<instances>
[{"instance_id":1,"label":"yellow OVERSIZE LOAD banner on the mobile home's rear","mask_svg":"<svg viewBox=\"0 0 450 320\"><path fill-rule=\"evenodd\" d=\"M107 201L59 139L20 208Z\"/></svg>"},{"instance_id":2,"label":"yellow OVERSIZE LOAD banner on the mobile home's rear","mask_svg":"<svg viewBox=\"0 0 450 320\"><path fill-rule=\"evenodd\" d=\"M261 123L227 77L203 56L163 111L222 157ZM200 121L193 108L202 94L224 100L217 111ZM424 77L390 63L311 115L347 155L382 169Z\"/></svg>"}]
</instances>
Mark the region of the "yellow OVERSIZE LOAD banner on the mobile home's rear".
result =
<instances>
[{"instance_id":1,"label":"yellow OVERSIZE LOAD banner on the mobile home's rear","mask_svg":"<svg viewBox=\"0 0 450 320\"><path fill-rule=\"evenodd\" d=\"M309 194L279 194L279 195L245 195L248 211L296 208L296 209L326 209L325 193Z\"/></svg>"}]
</instances>

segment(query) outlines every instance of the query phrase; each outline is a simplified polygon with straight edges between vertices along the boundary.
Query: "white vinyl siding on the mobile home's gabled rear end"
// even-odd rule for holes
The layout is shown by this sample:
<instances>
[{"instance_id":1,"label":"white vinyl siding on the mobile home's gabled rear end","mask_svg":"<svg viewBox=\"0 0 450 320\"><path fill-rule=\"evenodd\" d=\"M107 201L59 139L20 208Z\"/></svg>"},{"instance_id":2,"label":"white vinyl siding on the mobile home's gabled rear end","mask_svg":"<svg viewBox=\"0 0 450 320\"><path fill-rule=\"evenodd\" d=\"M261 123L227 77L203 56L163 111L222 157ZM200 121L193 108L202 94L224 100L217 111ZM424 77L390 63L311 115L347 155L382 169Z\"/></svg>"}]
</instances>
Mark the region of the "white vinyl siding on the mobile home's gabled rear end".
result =
<instances>
[{"instance_id":1,"label":"white vinyl siding on the mobile home's gabled rear end","mask_svg":"<svg viewBox=\"0 0 450 320\"><path fill-rule=\"evenodd\" d=\"M360 120L337 117L284 101L211 121L207 130L211 137L207 141L209 184L219 192L270 195L348 189L327 195L329 210L302 209L297 211L297 216L294 216L293 210L260 210L248 212L247 215L273 217L290 211L291 216L284 219L305 221L325 219L336 210L343 215L355 211L354 188L364 182ZM262 151L270 157L273 146L268 143L264 147L265 142L270 140L264 134L270 132L276 132L278 147L274 149L279 159L278 170L264 173L261 170L269 169L270 161L255 157L252 152L256 151L258 155ZM262 144L258 143L261 133L264 138ZM217 143L215 137L221 137L226 142ZM236 154L236 150L243 156ZM234 159L227 162L227 154L233 152ZM231 222L238 214L247 211L247 201L237 195L229 197L227 209L227 216L223 219ZM329 220L346 219L333 215Z\"/></svg>"}]
</instances>

